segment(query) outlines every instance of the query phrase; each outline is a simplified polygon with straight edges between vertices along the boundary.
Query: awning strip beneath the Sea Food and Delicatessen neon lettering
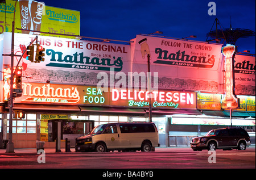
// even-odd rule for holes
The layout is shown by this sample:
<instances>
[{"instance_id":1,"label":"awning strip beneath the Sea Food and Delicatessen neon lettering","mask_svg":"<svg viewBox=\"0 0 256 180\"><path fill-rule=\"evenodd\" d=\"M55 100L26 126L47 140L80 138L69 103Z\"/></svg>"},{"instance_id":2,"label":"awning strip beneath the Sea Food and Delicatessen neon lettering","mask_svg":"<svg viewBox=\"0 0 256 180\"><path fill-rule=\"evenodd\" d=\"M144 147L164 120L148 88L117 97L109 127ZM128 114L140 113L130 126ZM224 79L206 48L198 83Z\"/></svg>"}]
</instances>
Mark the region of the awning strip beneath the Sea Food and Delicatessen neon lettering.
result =
<instances>
[{"instance_id":1,"label":"awning strip beneath the Sea Food and Delicatessen neon lettering","mask_svg":"<svg viewBox=\"0 0 256 180\"><path fill-rule=\"evenodd\" d=\"M143 109L137 108L115 108L115 107L86 107L79 106L82 112L112 112L112 113L130 113L145 114Z\"/></svg>"}]
</instances>

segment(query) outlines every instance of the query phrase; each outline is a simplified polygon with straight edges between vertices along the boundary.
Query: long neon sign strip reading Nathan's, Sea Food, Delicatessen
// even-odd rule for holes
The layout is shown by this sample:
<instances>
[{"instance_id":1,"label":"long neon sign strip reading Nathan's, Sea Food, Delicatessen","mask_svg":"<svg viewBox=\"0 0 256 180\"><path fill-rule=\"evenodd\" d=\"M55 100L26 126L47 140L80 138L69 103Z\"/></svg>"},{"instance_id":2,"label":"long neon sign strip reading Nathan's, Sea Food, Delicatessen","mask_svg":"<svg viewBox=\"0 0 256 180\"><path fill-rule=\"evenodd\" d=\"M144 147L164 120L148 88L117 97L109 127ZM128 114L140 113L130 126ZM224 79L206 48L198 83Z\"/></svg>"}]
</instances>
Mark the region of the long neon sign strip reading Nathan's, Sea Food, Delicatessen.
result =
<instances>
[{"instance_id":1,"label":"long neon sign strip reading Nathan's, Sea Food, Delicatessen","mask_svg":"<svg viewBox=\"0 0 256 180\"><path fill-rule=\"evenodd\" d=\"M22 83L22 97L15 103L72 104L147 108L150 93L147 90L116 89L108 91L96 86L73 86L51 83ZM153 108L195 109L196 93L153 90Z\"/></svg>"}]
</instances>

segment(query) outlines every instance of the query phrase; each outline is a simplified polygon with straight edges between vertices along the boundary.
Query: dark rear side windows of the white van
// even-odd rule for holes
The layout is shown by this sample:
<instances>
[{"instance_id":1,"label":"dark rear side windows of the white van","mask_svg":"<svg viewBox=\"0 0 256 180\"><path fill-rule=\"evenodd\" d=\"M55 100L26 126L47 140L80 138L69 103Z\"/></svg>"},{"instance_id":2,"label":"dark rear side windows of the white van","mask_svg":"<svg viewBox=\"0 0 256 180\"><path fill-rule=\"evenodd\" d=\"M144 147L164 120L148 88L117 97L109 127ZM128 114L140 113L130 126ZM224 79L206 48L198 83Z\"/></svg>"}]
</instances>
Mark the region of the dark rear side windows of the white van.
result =
<instances>
[{"instance_id":1,"label":"dark rear side windows of the white van","mask_svg":"<svg viewBox=\"0 0 256 180\"><path fill-rule=\"evenodd\" d=\"M155 132L152 124L120 124L121 133Z\"/></svg>"}]
</instances>

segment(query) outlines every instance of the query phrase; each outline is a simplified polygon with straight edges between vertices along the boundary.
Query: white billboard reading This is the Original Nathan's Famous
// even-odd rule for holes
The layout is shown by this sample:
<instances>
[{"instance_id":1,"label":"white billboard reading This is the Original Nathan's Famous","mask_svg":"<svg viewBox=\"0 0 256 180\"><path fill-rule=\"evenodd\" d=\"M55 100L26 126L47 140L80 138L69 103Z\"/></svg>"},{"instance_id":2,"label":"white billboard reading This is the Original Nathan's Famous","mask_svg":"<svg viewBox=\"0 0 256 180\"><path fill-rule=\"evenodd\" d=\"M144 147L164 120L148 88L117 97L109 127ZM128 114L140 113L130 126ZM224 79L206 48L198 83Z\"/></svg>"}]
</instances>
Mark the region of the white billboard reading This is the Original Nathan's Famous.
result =
<instances>
[{"instance_id":1,"label":"white billboard reading This is the Original Nathan's Famous","mask_svg":"<svg viewBox=\"0 0 256 180\"><path fill-rule=\"evenodd\" d=\"M34 38L35 35L15 34L15 55L22 55ZM97 85L100 72L131 72L130 45L49 36L38 36L38 43L45 48L44 61L31 62L25 54L19 64L23 66L23 82ZM9 53L11 33L4 33L3 44L3 53ZM14 58L14 65L18 60L19 57ZM3 56L3 64L10 66L10 56Z\"/></svg>"}]
</instances>

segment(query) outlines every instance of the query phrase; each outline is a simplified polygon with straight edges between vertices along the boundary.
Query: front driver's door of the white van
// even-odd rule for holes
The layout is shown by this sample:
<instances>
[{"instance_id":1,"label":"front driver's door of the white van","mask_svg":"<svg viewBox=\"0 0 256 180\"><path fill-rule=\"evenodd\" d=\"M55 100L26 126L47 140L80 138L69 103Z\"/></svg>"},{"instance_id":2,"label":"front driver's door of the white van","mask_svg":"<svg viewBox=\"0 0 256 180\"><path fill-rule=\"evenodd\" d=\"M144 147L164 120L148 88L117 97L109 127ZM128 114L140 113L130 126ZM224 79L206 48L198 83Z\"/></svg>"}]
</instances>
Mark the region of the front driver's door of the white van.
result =
<instances>
[{"instance_id":1,"label":"front driver's door of the white van","mask_svg":"<svg viewBox=\"0 0 256 180\"><path fill-rule=\"evenodd\" d=\"M117 125L110 124L106 127L105 131L103 132L105 135L105 143L107 149L116 149L119 147L119 135L117 132Z\"/></svg>"}]
</instances>

